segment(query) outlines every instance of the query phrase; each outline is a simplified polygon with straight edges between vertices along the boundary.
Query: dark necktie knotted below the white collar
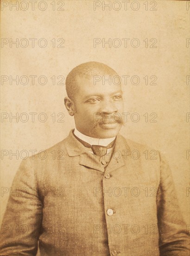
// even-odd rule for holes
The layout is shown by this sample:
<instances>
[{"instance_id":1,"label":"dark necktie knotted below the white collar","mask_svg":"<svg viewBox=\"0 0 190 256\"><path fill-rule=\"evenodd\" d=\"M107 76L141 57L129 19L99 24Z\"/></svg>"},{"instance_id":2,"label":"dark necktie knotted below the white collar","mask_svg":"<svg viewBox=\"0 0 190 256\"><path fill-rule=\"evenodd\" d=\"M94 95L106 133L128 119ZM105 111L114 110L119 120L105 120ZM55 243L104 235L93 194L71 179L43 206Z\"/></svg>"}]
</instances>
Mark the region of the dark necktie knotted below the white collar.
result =
<instances>
[{"instance_id":1,"label":"dark necktie knotted below the white collar","mask_svg":"<svg viewBox=\"0 0 190 256\"><path fill-rule=\"evenodd\" d=\"M111 143L108 144L108 146L101 146L101 145L90 145L89 143L87 143L86 141L82 141L81 139L79 139L74 133L73 135L76 137L76 139L78 141L80 141L82 143L82 145L86 148L92 148L92 151L95 155L98 156L103 156L106 155L107 153L107 149L114 147L114 143L115 143L115 139L114 141L112 141Z\"/></svg>"}]
</instances>

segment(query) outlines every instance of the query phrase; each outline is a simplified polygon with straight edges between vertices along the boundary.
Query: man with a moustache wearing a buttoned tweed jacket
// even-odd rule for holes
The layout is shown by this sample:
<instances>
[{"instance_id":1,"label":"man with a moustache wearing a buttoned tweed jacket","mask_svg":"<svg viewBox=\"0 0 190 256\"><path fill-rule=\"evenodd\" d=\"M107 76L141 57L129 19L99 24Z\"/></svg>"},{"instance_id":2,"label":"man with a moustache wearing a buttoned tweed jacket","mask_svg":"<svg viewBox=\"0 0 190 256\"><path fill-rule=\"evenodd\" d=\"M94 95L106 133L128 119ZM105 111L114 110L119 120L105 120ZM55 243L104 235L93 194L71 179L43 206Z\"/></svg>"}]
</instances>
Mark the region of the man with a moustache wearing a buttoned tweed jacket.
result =
<instances>
[{"instance_id":1,"label":"man with a moustache wearing a buttoned tweed jacket","mask_svg":"<svg viewBox=\"0 0 190 256\"><path fill-rule=\"evenodd\" d=\"M189 255L171 171L160 153L145 157L149 148L119 134L121 85L102 84L103 76L117 73L87 62L67 76L76 128L44 160L21 163L0 255L36 255L38 243L42 256Z\"/></svg>"}]
</instances>

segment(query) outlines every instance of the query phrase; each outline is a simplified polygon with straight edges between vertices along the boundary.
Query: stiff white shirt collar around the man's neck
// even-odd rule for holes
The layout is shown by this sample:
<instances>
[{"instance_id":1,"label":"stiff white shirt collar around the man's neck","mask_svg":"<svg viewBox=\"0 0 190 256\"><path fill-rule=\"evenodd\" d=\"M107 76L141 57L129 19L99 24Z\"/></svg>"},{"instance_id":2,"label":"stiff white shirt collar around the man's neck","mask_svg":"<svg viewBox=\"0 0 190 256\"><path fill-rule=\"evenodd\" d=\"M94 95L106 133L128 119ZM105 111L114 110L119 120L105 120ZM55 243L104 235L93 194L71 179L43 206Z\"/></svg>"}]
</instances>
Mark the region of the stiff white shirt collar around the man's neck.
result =
<instances>
[{"instance_id":1,"label":"stiff white shirt collar around the man's neck","mask_svg":"<svg viewBox=\"0 0 190 256\"><path fill-rule=\"evenodd\" d=\"M76 128L74 130L74 134L76 135L76 137L78 137L82 141L89 143L90 145L108 146L108 144L114 141L115 139L115 137L108 138L108 139L98 139L98 138L89 137L79 132Z\"/></svg>"}]
</instances>

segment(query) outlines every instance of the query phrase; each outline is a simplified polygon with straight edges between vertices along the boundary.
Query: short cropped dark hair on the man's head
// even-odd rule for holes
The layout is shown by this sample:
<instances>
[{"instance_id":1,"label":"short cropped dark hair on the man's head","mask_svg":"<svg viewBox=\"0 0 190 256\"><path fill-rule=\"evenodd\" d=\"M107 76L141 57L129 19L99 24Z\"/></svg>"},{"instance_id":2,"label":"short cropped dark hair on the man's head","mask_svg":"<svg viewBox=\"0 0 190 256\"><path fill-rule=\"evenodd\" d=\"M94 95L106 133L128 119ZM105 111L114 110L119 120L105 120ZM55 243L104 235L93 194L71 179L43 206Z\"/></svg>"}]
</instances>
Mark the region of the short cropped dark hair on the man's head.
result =
<instances>
[{"instance_id":1,"label":"short cropped dark hair on the man's head","mask_svg":"<svg viewBox=\"0 0 190 256\"><path fill-rule=\"evenodd\" d=\"M74 67L67 75L65 85L66 92L70 99L74 98L78 85L77 76L93 77L95 75L117 74L114 69L101 62L89 61Z\"/></svg>"}]
</instances>

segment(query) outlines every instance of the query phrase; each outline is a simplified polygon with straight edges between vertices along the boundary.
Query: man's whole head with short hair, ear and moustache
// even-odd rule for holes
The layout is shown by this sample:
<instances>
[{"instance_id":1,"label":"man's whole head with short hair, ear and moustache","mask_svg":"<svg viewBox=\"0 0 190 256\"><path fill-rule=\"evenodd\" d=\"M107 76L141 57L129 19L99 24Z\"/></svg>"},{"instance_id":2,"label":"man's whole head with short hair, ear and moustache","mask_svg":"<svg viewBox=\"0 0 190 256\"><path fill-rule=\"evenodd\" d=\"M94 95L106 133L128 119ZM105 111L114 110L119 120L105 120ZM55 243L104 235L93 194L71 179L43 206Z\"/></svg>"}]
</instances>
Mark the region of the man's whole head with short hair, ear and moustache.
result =
<instances>
[{"instance_id":1,"label":"man's whole head with short hair, ear and moustache","mask_svg":"<svg viewBox=\"0 0 190 256\"><path fill-rule=\"evenodd\" d=\"M118 74L95 61L73 68L66 78L65 106L76 128L95 138L116 136L123 124L123 98Z\"/></svg>"}]
</instances>

